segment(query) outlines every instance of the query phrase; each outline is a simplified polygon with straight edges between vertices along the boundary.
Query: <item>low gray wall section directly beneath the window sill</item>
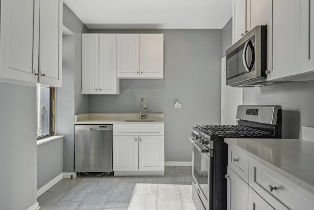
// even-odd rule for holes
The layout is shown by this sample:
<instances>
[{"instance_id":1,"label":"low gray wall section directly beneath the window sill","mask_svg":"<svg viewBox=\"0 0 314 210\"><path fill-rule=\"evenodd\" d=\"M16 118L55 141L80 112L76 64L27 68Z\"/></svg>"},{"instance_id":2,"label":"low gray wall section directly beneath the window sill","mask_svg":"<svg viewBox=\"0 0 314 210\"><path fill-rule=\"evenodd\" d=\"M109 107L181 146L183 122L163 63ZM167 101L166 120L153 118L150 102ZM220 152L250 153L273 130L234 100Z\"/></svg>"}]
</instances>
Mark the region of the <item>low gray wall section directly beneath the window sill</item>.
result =
<instances>
[{"instance_id":1,"label":"low gray wall section directly beneath the window sill","mask_svg":"<svg viewBox=\"0 0 314 210\"><path fill-rule=\"evenodd\" d=\"M63 138L37 146L37 189L63 172Z\"/></svg>"}]
</instances>

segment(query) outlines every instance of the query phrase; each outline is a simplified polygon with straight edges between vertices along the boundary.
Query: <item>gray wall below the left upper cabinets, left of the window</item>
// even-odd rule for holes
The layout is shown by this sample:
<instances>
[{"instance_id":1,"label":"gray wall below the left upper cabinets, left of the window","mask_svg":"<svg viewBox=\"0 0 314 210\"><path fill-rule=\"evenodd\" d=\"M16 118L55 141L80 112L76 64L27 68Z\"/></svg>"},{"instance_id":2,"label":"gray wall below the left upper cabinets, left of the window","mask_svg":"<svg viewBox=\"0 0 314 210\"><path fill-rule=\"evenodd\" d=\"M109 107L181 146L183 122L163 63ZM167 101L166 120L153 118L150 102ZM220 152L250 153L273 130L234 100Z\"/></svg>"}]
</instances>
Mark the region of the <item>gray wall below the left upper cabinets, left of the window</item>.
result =
<instances>
[{"instance_id":1,"label":"gray wall below the left upper cabinets, left of the window","mask_svg":"<svg viewBox=\"0 0 314 210\"><path fill-rule=\"evenodd\" d=\"M37 199L36 89L0 83L0 209Z\"/></svg>"}]
</instances>

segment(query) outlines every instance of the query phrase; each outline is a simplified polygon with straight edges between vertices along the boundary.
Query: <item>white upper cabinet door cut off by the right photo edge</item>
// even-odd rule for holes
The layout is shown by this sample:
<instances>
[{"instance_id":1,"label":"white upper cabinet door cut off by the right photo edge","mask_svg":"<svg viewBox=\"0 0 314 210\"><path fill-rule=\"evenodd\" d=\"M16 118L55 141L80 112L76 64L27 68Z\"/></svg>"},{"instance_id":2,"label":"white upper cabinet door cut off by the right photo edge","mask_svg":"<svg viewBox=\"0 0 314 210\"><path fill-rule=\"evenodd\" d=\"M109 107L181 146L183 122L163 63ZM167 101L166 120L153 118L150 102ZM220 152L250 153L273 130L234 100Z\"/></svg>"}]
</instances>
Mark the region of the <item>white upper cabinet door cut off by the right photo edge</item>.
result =
<instances>
[{"instance_id":1,"label":"white upper cabinet door cut off by the right photo edge","mask_svg":"<svg viewBox=\"0 0 314 210\"><path fill-rule=\"evenodd\" d=\"M311 2L311 3L310 3ZM301 73L314 71L314 2L301 1Z\"/></svg>"}]
</instances>

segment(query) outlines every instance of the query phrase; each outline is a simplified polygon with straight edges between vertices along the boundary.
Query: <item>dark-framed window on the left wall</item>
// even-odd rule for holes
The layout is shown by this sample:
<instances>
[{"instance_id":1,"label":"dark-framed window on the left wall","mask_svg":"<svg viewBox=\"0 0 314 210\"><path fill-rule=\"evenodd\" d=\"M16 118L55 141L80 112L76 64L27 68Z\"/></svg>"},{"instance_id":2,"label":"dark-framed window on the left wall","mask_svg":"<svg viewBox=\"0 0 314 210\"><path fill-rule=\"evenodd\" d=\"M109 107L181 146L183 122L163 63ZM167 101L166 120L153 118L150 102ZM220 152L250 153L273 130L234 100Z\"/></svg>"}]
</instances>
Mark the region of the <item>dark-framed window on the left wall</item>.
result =
<instances>
[{"instance_id":1,"label":"dark-framed window on the left wall","mask_svg":"<svg viewBox=\"0 0 314 210\"><path fill-rule=\"evenodd\" d=\"M54 134L54 99L54 88L36 88L37 139Z\"/></svg>"}]
</instances>

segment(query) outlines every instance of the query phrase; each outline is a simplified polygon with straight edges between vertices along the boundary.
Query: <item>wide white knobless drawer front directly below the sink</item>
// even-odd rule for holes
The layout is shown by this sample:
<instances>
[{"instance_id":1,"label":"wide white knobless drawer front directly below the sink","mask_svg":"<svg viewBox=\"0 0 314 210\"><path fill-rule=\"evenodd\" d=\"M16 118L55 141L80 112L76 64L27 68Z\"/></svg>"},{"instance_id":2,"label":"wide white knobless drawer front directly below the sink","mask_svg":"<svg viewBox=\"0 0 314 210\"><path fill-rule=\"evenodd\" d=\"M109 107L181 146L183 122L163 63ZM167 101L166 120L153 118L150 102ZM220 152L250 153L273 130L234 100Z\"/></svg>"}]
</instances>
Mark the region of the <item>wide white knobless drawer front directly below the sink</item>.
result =
<instances>
[{"instance_id":1,"label":"wide white knobless drawer front directly below the sink","mask_svg":"<svg viewBox=\"0 0 314 210\"><path fill-rule=\"evenodd\" d=\"M114 136L164 136L164 124L114 124Z\"/></svg>"}]
</instances>

